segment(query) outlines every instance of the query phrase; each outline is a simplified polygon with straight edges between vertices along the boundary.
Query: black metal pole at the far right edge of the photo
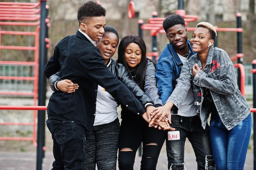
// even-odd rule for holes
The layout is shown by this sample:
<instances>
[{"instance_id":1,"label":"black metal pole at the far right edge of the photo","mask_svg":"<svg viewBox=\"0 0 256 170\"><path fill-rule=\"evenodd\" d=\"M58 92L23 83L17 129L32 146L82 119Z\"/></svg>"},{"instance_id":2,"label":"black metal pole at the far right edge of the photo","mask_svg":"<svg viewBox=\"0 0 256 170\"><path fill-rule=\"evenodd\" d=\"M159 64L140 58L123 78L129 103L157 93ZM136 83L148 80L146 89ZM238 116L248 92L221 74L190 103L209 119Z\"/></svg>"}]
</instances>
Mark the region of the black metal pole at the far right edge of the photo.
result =
<instances>
[{"instance_id":1,"label":"black metal pole at the far right edge of the photo","mask_svg":"<svg viewBox=\"0 0 256 170\"><path fill-rule=\"evenodd\" d=\"M252 61L252 68L256 69L256 60ZM252 86L253 86L253 107L256 108L256 73L252 74ZM253 113L253 120L256 121L256 113ZM256 170L256 126L253 126L253 155L254 155L254 170Z\"/></svg>"}]
</instances>

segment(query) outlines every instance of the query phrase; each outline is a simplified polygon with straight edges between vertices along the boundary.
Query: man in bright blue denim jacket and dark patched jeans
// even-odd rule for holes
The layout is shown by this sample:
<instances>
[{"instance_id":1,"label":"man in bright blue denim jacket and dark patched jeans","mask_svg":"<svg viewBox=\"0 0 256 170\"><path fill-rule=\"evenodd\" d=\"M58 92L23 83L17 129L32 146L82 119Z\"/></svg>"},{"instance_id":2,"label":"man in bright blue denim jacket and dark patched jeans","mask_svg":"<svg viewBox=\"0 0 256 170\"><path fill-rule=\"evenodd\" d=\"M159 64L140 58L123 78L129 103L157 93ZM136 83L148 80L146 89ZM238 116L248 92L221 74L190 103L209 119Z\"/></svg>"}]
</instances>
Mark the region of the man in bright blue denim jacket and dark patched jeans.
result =
<instances>
[{"instance_id":1,"label":"man in bright blue denim jacket and dark patched jeans","mask_svg":"<svg viewBox=\"0 0 256 170\"><path fill-rule=\"evenodd\" d=\"M163 22L163 28L170 44L166 45L159 56L156 78L159 96L164 104L177 84L183 64L195 53L188 40L182 16L169 15ZM171 116L171 126L176 130L166 132L168 169L185 169L184 144L188 138L195 152L198 170L211 170L214 168L214 162L209 141L209 126L201 126L200 117L195 110L192 89L182 93L182 97L185 99L179 110Z\"/></svg>"}]
</instances>

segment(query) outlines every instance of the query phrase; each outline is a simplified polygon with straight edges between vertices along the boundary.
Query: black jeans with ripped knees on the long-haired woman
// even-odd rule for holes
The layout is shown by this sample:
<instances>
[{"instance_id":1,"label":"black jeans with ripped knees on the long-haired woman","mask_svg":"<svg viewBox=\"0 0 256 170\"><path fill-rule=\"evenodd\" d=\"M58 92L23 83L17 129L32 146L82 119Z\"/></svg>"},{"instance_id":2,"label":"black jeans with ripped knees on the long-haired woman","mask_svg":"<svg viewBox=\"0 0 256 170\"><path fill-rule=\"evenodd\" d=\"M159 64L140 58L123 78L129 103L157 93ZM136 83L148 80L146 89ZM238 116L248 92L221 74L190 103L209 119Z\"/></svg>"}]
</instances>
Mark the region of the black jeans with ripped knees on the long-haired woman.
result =
<instances>
[{"instance_id":1,"label":"black jeans with ripped knees on the long-haired woman","mask_svg":"<svg viewBox=\"0 0 256 170\"><path fill-rule=\"evenodd\" d=\"M164 140L164 130L149 128L148 122L144 120L122 120L119 135L119 170L133 170L136 152L141 142L143 148L140 169L155 170Z\"/></svg>"}]
</instances>

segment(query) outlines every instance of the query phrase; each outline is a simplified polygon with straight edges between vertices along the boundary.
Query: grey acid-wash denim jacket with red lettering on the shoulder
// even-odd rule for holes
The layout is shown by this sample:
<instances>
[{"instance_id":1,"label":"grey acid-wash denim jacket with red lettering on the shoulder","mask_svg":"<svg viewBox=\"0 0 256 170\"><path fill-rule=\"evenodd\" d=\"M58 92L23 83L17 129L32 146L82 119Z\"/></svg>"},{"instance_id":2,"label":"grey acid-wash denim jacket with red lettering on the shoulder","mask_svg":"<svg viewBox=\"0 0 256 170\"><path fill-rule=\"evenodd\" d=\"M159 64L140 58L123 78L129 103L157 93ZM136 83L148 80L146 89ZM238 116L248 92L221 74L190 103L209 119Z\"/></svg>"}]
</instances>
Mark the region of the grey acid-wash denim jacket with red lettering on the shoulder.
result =
<instances>
[{"instance_id":1,"label":"grey acid-wash denim jacket with red lettering on the shoulder","mask_svg":"<svg viewBox=\"0 0 256 170\"><path fill-rule=\"evenodd\" d=\"M229 55L223 49L211 46L206 65L194 77L192 67L195 64L201 64L197 54L183 65L177 85L167 102L179 108L192 85L196 111L205 128L211 113L211 106L202 106L204 90L208 88L222 123L231 130L250 114L250 108L238 89L236 69Z\"/></svg>"}]
</instances>

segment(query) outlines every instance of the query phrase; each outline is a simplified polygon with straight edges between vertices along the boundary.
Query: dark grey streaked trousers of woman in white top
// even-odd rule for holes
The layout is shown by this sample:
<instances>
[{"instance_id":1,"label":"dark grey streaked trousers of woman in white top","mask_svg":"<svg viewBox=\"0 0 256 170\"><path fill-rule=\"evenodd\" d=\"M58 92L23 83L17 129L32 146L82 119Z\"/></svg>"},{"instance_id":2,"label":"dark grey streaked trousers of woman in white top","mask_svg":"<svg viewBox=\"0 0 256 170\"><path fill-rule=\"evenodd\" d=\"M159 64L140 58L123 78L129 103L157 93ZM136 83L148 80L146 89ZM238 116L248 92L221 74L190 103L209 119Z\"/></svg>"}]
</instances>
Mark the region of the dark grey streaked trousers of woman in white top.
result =
<instances>
[{"instance_id":1,"label":"dark grey streaked trousers of woman in white top","mask_svg":"<svg viewBox=\"0 0 256 170\"><path fill-rule=\"evenodd\" d=\"M120 132L119 119L86 131L85 170L116 170Z\"/></svg>"}]
</instances>

